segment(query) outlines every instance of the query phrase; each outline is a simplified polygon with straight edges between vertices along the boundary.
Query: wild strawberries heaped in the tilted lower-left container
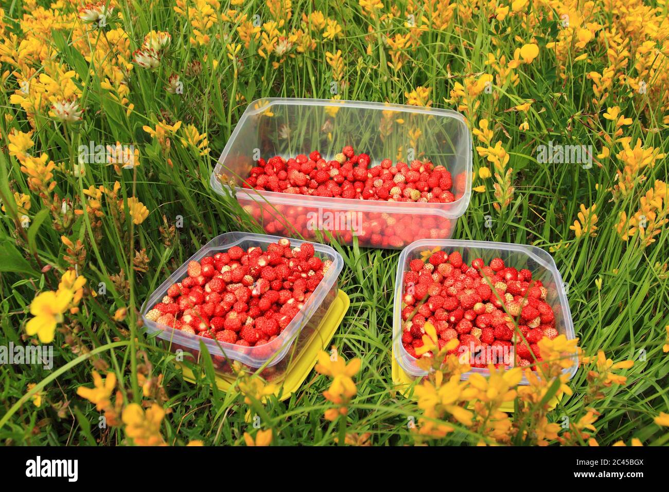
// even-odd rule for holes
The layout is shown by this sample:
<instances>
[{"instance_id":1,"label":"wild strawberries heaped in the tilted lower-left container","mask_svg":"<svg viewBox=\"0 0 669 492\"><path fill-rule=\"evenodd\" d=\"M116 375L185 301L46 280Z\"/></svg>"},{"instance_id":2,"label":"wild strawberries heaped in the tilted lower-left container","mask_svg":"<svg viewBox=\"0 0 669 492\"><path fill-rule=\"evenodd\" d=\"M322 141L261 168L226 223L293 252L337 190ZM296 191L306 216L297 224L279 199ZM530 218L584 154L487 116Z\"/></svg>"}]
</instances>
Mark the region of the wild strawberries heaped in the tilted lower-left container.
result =
<instances>
[{"instance_id":1,"label":"wild strawberries heaped in the tilted lower-left container","mask_svg":"<svg viewBox=\"0 0 669 492\"><path fill-rule=\"evenodd\" d=\"M332 262L314 246L290 248L282 238L268 245L233 246L188 264L188 275L167 289L146 318L186 333L257 347L290 324Z\"/></svg>"}]
</instances>

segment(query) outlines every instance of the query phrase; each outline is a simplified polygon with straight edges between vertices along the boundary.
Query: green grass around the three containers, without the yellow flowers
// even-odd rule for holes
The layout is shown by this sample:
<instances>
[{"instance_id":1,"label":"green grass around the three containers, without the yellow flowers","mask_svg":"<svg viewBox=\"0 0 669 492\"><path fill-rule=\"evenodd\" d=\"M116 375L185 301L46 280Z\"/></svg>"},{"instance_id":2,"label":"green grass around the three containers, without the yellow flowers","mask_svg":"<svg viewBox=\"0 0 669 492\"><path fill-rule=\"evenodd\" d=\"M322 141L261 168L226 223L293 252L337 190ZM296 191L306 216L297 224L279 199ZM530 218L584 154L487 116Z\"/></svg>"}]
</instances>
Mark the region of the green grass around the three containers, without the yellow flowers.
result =
<instances>
[{"instance_id":1,"label":"green grass around the three containers, without the yellow flowers","mask_svg":"<svg viewBox=\"0 0 669 492\"><path fill-rule=\"evenodd\" d=\"M475 9L471 19L456 10L443 30L428 29L419 46L403 51L403 67L395 71L387 66L391 59L389 48L381 39L408 32L403 25L407 13L405 2L397 3L394 19L379 21L363 13L355 2L332 5L320 0L294 1L289 28L298 27L302 12L318 9L326 17L337 19L343 29L341 35L334 41L322 40L318 35L315 48L304 53L293 48L290 54L294 57L286 57L278 70L272 67L272 61L278 61L276 56L265 60L256 53L257 45L250 49L242 46L237 68L243 65L243 70L235 77L226 44L228 39L240 42L235 31L237 25L219 21L209 29L211 42L207 46L192 46L189 44L192 19L189 21L172 7L171 1L155 1L151 9L138 2L121 2L116 12L122 12L123 19L114 14L108 26L92 29L88 36L86 44L95 50L110 29L122 28L128 35L129 49L134 50L151 29L171 33L169 51L157 70L134 66L130 72L126 97L134 104L134 111L129 116L127 105L120 105L102 88L107 75L82 56L80 50L84 45L77 42L76 33L64 28L47 35L48 29L41 31L27 21L21 25L19 19L33 9L23 11L21 2L5 7L6 27L0 35L5 46L11 46L7 40L9 33L16 33L19 39L39 37L41 42L50 44L54 59L75 70L80 105L86 112L81 122L64 125L48 116L48 108L44 108L35 115L35 127L31 128L26 112L10 101L10 96L19 89L20 74L24 71L11 60L20 58L37 74L50 73L51 69L30 54L13 58L11 50L0 48L3 55L0 72L10 70L18 74L8 74L6 82L3 78L0 92L3 116L0 135L5 145L0 153L0 195L7 208L0 220L0 344L32 343L33 337L25 334L29 304L36 291L55 289L60 274L68 268L62 235L73 242L81 240L84 245L85 257L79 262L78 271L86 276L88 288L97 291L99 282L106 284L105 295L92 297L87 291L80 313L66 315L66 323L61 325L66 333L56 333L53 370L37 365L0 365L0 442L5 444L125 442L120 428L98 428L98 412L76 395L78 387L91 385L94 367L116 373L119 388L128 402L142 400L138 372L153 377L163 375L164 394L157 398L169 409L162 426L167 443L185 444L200 439L205 444L242 444L242 434L253 433L252 422L245 418L250 408L244 404L244 397L216 390L211 373L197 384L184 382L173 355L161 349L138 325L138 309L155 286L208 240L223 232L248 227L246 218L237 219L240 210L233 199L221 197L209 188L215 159L248 102L270 96L330 98L333 70L326 63L325 53L341 50L344 61L341 80L347 82L339 84L342 99L405 103L405 93L425 86L431 90L429 99L433 106L456 108L456 104L449 102L454 83L464 84L469 74L488 70L484 63L486 55L497 49L493 38L509 60L514 49L523 44L514 36L519 35L527 43L532 35L518 15L500 23L489 20L494 12L485 9ZM225 8L223 3L219 11ZM263 21L270 19L270 10L262 2L245 2L237 8L246 12L249 19L256 14ZM666 15L666 6L664 9ZM72 7L66 7L66 13L73 11ZM389 11L389 5L383 11ZM569 284L568 299L579 346L588 355L601 349L613 361L634 359L635 364L623 372L628 378L626 386L613 385L604 391L603 399L594 402L587 399L587 372L579 370L569 384L573 396L562 400L551 413L551 419L560 422L567 416L575 421L585 414L585 408L592 406L601 413L595 423L600 444L621 439L629 444L633 437L644 444L665 444L669 434L654 424L653 419L669 408L669 357L662 349L667 336L664 327L669 325L669 274L665 271L669 233L666 226L660 227L656 241L644 248L638 234L628 242L622 241L615 225L620 212L625 211L628 217L634 215L640 208L640 197L652 188L656 179L667 181L666 160L658 159L654 167L643 169L640 174L646 179L639 180L628 196L612 199L616 171L624 167L615 157L620 144L613 144L611 157L599 161L599 165L595 163L591 169L577 164L539 163L535 148L553 140L565 145L593 145L595 153L599 153L605 144L604 135L613 134L613 125L601 118L601 114L593 115L617 105L622 114L633 120L632 125L624 127L623 135L632 137L632 146L640 138L645 147L669 151L669 132L662 123L669 101L663 75L666 55L660 56L658 68L650 74L652 90L648 94L634 94L615 82L607 102L595 106L593 82L586 74L601 72L607 66L605 42L593 40L585 50L572 47L563 62L566 74L563 80L555 70L555 54L545 46L559 31L554 20L557 16L549 19L545 8L539 13L543 20L532 27L541 50L539 58L514 71L518 75L516 86L510 81L495 84L493 94L478 96L480 106L467 113L472 126L478 125L482 118L490 120L494 129L492 145L502 141L510 155L508 167L513 169L514 194L508 206L498 211L491 190L494 177L485 181L476 178L474 185L486 184L488 191L472 195L453 237L533 244L546 250L562 245L554 250L553 257ZM56 11L56 16L59 15L62 13ZM599 10L593 15L603 25L610 25L615 17ZM368 25L373 27L371 35ZM496 34L500 26L502 33ZM510 27L508 33L506 27ZM644 39L634 38L634 47ZM371 54L367 54L368 43ZM582 52L589 54L589 60L573 60ZM215 70L212 60L219 62ZM111 62L103 65L107 63ZM200 72L193 66L197 63L201 64ZM617 72L638 76L633 65L630 62ZM184 82L181 95L165 92L164 86L172 73L180 74ZM507 111L526 100L535 100L527 114ZM518 125L524 118L529 129L520 131ZM211 154L199 156L192 147L182 145L182 127L171 137L171 148L166 155L159 143L142 130L143 125L155 127L162 119L172 124L177 121L193 124L200 133L207 133ZM35 141L31 152L48 153L57 165L54 170L57 185L52 196L57 193L58 201L53 213L29 190L19 162L7 151L10 131L31 129ZM475 146L482 145L474 140ZM85 175L75 175L76 149L88 141L102 145L116 141L134 143L140 149L141 164L132 171L122 171L121 175L110 166L89 164ZM475 173L484 165L488 163L474 151ZM87 214L75 216L71 208L64 215L59 212L60 199L66 198L71 205L74 203L74 208L81 208L86 201L84 189L100 185L111 188L116 180L120 182L119 199L134 196L147 206L149 216L142 224L119 222L109 212L113 204L103 200L106 214L101 219L98 237ZM20 227L20 214L10 199L15 191L31 196L27 212L31 222L27 229ZM664 210L666 201L662 204ZM569 229L577 219L581 203L586 207L597 206L596 236L575 238ZM178 216L183 218L183 227L170 230ZM490 228L485 226L486 216L492 219ZM358 394L349 406L347 432L371 432L371 442L376 445L412 444L407 422L411 417L417 420L420 412L414 402L393 390L391 380L393 290L399 252L361 248L356 244L335 247L345 260L339 281L351 299L351 307L332 344L346 359L362 359L361 371L355 378ZM137 252L147 255L147 271L133 268L137 266L134 263ZM51 265L52 270L42 273L46 265ZM60 274L56 276L55 272ZM127 283L113 280L112 276L121 272ZM598 279L601 289L595 284ZM115 321L112 316L122 307L128 309L128 316L124 321ZM28 384L37 386L28 392ZM264 409L256 405L251 414L262 414L263 428L274 429L275 444L333 444L342 428L341 422L330 423L322 417L329 408L322 396L328 384L328 378L311 372L298 393L284 402L270 398ZM38 391L42 394L39 408L31 401ZM152 395L145 400L155 398ZM438 443L472 444L477 440L466 432L455 432Z\"/></svg>"}]
</instances>

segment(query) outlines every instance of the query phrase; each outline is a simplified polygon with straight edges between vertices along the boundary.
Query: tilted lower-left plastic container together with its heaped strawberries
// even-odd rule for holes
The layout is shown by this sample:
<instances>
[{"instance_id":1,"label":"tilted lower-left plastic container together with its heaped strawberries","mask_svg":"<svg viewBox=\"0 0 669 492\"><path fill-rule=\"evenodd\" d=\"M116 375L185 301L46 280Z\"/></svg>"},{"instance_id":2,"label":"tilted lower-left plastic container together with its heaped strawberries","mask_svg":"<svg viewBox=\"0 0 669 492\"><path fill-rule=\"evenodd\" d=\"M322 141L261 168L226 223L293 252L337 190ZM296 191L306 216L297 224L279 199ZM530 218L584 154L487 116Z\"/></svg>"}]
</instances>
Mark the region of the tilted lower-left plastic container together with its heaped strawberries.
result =
<instances>
[{"instance_id":1,"label":"tilted lower-left plastic container together with its heaped strawberries","mask_svg":"<svg viewBox=\"0 0 669 492\"><path fill-rule=\"evenodd\" d=\"M204 343L221 374L233 374L238 361L275 380L328 313L342 266L329 246L229 232L165 280L142 318L195 360Z\"/></svg>"}]
</instances>

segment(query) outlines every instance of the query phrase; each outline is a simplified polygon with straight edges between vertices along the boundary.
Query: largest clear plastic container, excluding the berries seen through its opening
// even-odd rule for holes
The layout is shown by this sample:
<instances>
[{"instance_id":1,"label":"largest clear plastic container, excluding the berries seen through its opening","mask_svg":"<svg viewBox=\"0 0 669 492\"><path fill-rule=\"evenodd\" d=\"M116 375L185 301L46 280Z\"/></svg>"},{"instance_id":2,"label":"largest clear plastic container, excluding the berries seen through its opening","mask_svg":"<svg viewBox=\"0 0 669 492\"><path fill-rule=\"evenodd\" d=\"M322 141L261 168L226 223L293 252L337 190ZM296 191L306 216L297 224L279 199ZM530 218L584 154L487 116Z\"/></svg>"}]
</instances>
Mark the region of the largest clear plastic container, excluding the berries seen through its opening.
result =
<instances>
[{"instance_id":1,"label":"largest clear plastic container, excluding the berries seen through its opening","mask_svg":"<svg viewBox=\"0 0 669 492\"><path fill-rule=\"evenodd\" d=\"M417 203L291 195L242 188L256 160L317 150L334 159L345 145L383 159L429 160L453 177L451 203ZM436 108L377 102L270 98L252 102L211 174L217 193L231 193L268 234L341 244L402 248L422 238L450 238L469 205L472 139L464 117Z\"/></svg>"}]
</instances>

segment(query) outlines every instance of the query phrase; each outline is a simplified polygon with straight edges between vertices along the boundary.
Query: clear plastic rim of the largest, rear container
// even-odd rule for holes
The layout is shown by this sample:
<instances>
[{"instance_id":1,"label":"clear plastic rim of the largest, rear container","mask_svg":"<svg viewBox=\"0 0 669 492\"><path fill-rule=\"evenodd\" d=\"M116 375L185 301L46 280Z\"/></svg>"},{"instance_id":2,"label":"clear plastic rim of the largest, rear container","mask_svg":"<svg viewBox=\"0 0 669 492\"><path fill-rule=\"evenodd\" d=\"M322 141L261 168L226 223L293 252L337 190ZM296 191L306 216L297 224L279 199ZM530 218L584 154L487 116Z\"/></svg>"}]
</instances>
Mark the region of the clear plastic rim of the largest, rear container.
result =
<instances>
[{"instance_id":1,"label":"clear plastic rim of the largest, rear container","mask_svg":"<svg viewBox=\"0 0 669 492\"><path fill-rule=\"evenodd\" d=\"M467 162L465 163L465 190L464 193L462 193L462 196L460 196L458 199L450 203L397 202L393 206L389 205L389 203L393 202L388 202L383 200L355 200L350 198L326 198L326 197L318 197L317 200L318 200L318 207L322 208L354 207L351 201L353 202L360 201L360 202L365 202L364 204L357 203L357 205L360 205L362 207L362 210L371 210L372 212L374 212L376 209L378 209L379 212L406 214L407 208L410 208L412 212L415 212L417 214L425 214L425 215L434 214L442 216L443 218L446 219L456 219L462 216L466 212L472 195L473 157L472 157L472 137L470 135L470 131L467 127L467 122L464 116L462 116L462 114L460 114L459 112L450 109L425 108L421 106L409 106L408 104L391 104L385 102L308 99L308 98L260 98L250 102L250 104L246 107L246 110L244 110L244 113L240 117L240 120L237 122L237 125L235 126L235 129L231 133L229 139L227 139L227 143L225 144L225 147L223 147L223 151L221 152L221 155L218 158L216 166L214 170L211 172L211 177L209 178L209 185L211 186L211 189L213 189L216 193L219 193L219 195L224 194L223 188L227 188L230 193L232 192L232 187L227 184L221 183L217 178L217 175L220 173L221 168L223 167L222 163L225 160L225 157L227 157L233 145L233 142L235 141L237 135L239 135L240 131L242 130L242 127L244 126L243 123L250 116L254 116L256 114L265 112L268 108L276 104L285 104L292 106L349 106L351 108L373 109L373 110L397 110L401 112L412 112L417 114L429 114L432 116L455 118L456 120L460 121L462 125L464 125L464 129L466 130L465 135L467 135L467 139L469 142L467 148L468 149ZM256 105L258 106L258 108L254 108L254 106ZM242 177L242 179L244 179L244 177ZM258 191L256 189L248 189L235 186L235 192L246 193L246 195L248 195L249 197L251 197L251 195L255 193L262 199L264 199L264 201L272 201L272 203L280 203L282 205L314 206L312 204L304 203L305 201L304 197L303 198L292 197L287 193L280 193L278 191ZM441 205L442 207L438 205ZM444 206L448 206L448 211L444 210L445 208Z\"/></svg>"}]
</instances>

